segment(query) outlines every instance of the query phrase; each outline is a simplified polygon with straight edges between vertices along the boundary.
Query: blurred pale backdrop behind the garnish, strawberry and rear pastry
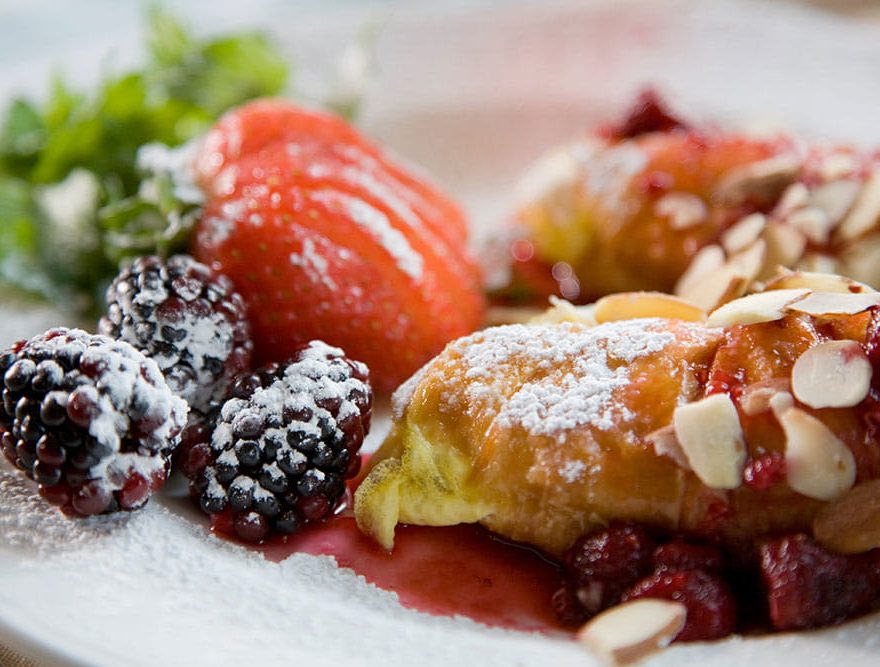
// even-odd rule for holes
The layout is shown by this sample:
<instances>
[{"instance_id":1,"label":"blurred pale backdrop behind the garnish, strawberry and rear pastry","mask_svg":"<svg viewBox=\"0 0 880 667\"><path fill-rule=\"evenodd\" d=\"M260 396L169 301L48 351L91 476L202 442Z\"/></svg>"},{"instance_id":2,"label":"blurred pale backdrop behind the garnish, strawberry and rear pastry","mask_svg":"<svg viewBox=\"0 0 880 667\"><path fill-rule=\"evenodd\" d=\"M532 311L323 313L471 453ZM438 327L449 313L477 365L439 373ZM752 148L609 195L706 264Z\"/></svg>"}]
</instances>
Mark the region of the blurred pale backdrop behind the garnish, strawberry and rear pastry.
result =
<instances>
[{"instance_id":1,"label":"blurred pale backdrop behind the garnish, strawberry and rear pastry","mask_svg":"<svg viewBox=\"0 0 880 667\"><path fill-rule=\"evenodd\" d=\"M687 118L880 145L880 0L0 0L0 108L142 68L156 5L199 37L268 34L286 94L355 111L478 241L538 155L645 86Z\"/></svg>"}]
</instances>

